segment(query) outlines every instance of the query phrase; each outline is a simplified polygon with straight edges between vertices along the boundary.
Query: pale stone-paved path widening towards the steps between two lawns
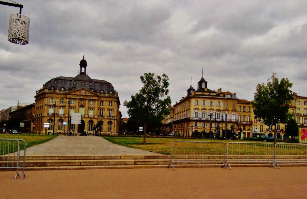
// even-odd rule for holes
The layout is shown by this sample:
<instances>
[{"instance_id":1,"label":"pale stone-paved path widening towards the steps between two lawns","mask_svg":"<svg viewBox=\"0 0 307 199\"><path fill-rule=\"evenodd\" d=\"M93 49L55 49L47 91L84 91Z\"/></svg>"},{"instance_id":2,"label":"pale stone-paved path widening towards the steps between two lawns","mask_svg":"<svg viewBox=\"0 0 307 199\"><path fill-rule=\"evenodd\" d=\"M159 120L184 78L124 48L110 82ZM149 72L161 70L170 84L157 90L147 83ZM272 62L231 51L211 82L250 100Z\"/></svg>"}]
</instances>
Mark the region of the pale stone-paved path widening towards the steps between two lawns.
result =
<instances>
[{"instance_id":1,"label":"pale stone-paved path widening towards the steps between two lawns","mask_svg":"<svg viewBox=\"0 0 307 199\"><path fill-rule=\"evenodd\" d=\"M23 154L23 151L20 152ZM26 149L26 155L157 155L156 153L113 144L102 137L58 136Z\"/></svg>"}]
</instances>

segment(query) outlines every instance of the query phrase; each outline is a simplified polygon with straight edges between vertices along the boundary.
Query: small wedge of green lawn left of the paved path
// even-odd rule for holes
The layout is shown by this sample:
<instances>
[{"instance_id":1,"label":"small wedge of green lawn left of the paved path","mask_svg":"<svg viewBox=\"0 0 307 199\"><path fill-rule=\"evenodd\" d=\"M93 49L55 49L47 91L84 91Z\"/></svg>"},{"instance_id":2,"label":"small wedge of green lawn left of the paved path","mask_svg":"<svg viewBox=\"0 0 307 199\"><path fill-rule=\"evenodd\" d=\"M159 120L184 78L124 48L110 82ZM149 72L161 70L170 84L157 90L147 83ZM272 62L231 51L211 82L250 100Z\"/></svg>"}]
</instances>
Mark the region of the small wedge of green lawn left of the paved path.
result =
<instances>
[{"instance_id":1,"label":"small wedge of green lawn left of the paved path","mask_svg":"<svg viewBox=\"0 0 307 199\"><path fill-rule=\"evenodd\" d=\"M49 140L52 140L56 137L57 135L10 135L10 134L1 134L0 135L0 139L23 139L25 140L26 143L26 148L29 148L30 146L34 146L37 144L41 144L44 142L48 142ZM11 142L13 143L13 142ZM3 155L3 150L6 147L5 150L5 154L7 152L16 152L17 151L17 142L14 142L15 146L10 145L10 149L7 149L7 144L8 142L6 141L6 143L4 144L3 140L0 140L0 155ZM24 149L24 144L23 142L20 142L21 146L20 146L20 150ZM13 148L15 149L13 151Z\"/></svg>"}]
</instances>

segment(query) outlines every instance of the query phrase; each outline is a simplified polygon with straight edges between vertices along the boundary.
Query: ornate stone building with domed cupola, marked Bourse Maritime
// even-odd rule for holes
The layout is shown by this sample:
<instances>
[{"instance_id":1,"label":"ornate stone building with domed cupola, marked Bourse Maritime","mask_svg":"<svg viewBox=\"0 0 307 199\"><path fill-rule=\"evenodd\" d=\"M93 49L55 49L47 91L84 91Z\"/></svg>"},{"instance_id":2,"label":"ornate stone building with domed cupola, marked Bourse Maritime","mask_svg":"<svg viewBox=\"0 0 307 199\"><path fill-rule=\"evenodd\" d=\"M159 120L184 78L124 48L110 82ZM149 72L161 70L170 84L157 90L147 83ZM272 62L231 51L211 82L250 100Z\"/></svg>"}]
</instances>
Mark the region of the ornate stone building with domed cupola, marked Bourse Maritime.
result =
<instances>
[{"instance_id":1,"label":"ornate stone building with domed cupola, marked Bourse Maritime","mask_svg":"<svg viewBox=\"0 0 307 199\"><path fill-rule=\"evenodd\" d=\"M68 117L72 113L81 113L81 124L75 124L75 128L70 124L72 131L92 131L94 125L99 126L97 130L102 133L121 131L117 91L110 82L91 79L86 67L83 57L77 76L53 78L36 92L33 117L36 132L51 132L53 127L55 132L68 132ZM49 123L49 128L44 128L44 123Z\"/></svg>"}]
</instances>

